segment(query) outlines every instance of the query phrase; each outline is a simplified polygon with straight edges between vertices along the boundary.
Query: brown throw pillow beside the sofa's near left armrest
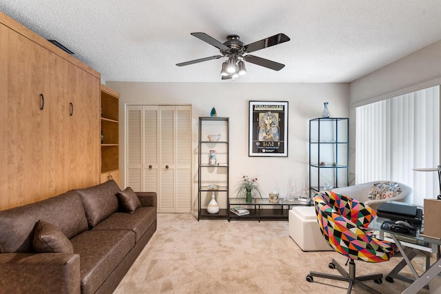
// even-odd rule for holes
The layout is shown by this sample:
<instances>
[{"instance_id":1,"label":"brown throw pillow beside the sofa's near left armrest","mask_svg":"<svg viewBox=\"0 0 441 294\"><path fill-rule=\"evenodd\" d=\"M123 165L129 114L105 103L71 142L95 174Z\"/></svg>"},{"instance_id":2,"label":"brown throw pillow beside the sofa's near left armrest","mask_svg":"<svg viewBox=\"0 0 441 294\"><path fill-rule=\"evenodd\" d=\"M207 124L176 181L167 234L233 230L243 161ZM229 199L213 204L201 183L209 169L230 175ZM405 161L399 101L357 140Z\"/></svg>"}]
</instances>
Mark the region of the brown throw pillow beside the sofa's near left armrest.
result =
<instances>
[{"instance_id":1,"label":"brown throw pillow beside the sofa's near left armrest","mask_svg":"<svg viewBox=\"0 0 441 294\"><path fill-rule=\"evenodd\" d=\"M34 251L38 253L74 253L74 246L57 226L39 220L35 224Z\"/></svg>"}]
</instances>

